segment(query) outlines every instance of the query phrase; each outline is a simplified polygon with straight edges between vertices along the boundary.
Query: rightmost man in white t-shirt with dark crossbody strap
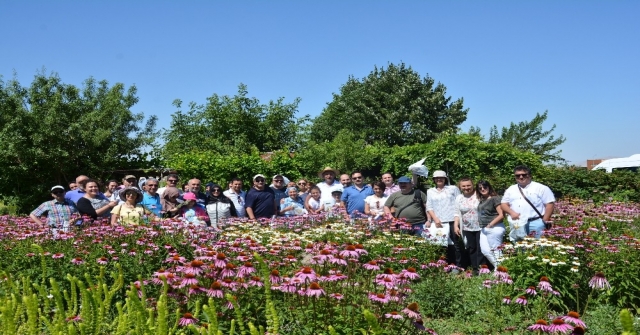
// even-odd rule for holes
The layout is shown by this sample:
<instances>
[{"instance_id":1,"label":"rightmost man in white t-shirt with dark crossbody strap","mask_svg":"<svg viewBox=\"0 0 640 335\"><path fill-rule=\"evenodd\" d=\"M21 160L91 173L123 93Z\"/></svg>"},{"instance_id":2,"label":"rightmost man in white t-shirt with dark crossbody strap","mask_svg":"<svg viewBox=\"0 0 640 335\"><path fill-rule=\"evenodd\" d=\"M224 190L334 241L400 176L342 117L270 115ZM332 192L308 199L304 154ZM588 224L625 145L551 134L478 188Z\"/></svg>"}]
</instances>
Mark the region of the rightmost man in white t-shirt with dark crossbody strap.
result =
<instances>
[{"instance_id":1,"label":"rightmost man in white t-shirt with dark crossbody strap","mask_svg":"<svg viewBox=\"0 0 640 335\"><path fill-rule=\"evenodd\" d=\"M518 165L513 170L513 174L516 184L511 185L504 192L500 207L513 221L526 217L525 230L527 234L535 232L535 237L540 238L546 228L545 225L551 226L553 224L551 214L553 214L556 198L548 186L531 180L529 167Z\"/></svg>"}]
</instances>

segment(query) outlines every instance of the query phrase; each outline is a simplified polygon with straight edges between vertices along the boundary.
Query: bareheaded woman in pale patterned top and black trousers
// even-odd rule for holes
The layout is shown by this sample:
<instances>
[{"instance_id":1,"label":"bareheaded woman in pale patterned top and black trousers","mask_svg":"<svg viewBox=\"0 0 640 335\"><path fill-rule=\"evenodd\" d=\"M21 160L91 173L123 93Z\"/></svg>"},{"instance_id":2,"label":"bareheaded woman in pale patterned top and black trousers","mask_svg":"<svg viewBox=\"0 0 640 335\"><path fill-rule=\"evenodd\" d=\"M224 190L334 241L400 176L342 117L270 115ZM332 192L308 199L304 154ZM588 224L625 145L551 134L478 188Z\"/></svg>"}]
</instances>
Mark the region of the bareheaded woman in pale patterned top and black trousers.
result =
<instances>
[{"instance_id":1,"label":"bareheaded woman in pale patterned top and black trousers","mask_svg":"<svg viewBox=\"0 0 640 335\"><path fill-rule=\"evenodd\" d=\"M462 194L456 197L456 214L454 231L466 240L466 249L474 274L478 274L480 266L480 224L478 223L478 198L471 178L458 181ZM462 231L462 235L460 234Z\"/></svg>"}]
</instances>

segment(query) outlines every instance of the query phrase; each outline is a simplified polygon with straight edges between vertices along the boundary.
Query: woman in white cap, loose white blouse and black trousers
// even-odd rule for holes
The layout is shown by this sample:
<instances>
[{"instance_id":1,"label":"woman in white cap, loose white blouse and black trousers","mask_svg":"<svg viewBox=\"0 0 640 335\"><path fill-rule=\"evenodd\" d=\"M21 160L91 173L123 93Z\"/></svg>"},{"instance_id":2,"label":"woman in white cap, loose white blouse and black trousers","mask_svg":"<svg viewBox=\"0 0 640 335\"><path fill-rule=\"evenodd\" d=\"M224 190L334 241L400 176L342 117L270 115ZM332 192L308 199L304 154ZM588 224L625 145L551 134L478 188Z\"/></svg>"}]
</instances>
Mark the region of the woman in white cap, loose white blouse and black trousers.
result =
<instances>
[{"instance_id":1,"label":"woman in white cap, loose white blouse and black trousers","mask_svg":"<svg viewBox=\"0 0 640 335\"><path fill-rule=\"evenodd\" d=\"M456 197L460 190L449 184L447 174L442 170L433 173L433 182L436 187L427 190L427 213L431 217L432 224L442 228L442 224L449 225L449 237L453 245L447 246L447 262L462 267L462 253L458 246L458 235L454 228Z\"/></svg>"}]
</instances>

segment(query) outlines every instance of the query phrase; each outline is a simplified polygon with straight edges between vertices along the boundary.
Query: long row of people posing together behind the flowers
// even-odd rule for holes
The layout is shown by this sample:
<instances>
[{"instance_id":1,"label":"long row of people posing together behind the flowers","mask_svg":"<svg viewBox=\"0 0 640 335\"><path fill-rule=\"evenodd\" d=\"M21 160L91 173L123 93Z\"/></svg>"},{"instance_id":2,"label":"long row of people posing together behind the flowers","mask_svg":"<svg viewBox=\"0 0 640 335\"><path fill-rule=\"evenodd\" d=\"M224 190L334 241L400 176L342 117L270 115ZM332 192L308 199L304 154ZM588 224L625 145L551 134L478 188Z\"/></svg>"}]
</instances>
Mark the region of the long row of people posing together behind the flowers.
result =
<instances>
[{"instance_id":1,"label":"long row of people posing together behind the flowers","mask_svg":"<svg viewBox=\"0 0 640 335\"><path fill-rule=\"evenodd\" d=\"M243 180L232 179L225 188L215 183L202 187L199 179L180 184L176 174L160 187L156 178L127 175L119 183L109 180L104 191L100 183L85 175L69 184L51 188L53 200L31 212L31 219L54 230L69 229L87 220L113 225L136 225L157 218L179 218L194 225L219 229L232 217L273 219L323 213L345 213L349 220L371 224L402 221L407 233L428 238L432 228L448 230L447 259L458 267L498 265L505 214L509 222L522 224L526 233L539 238L552 224L555 198L549 187L532 181L526 166L514 169L516 183L501 197L488 181L474 183L461 178L451 185L444 171L432 175L435 187L426 193L414 186L418 176L401 176L394 183L390 173L371 184L362 173L340 174L331 167L319 172L317 184L307 179L290 181L277 174L256 174L243 190ZM181 185L178 187L178 185ZM43 222L43 217L47 217ZM397 223L396 223L397 224ZM460 243L464 241L464 243Z\"/></svg>"}]
</instances>

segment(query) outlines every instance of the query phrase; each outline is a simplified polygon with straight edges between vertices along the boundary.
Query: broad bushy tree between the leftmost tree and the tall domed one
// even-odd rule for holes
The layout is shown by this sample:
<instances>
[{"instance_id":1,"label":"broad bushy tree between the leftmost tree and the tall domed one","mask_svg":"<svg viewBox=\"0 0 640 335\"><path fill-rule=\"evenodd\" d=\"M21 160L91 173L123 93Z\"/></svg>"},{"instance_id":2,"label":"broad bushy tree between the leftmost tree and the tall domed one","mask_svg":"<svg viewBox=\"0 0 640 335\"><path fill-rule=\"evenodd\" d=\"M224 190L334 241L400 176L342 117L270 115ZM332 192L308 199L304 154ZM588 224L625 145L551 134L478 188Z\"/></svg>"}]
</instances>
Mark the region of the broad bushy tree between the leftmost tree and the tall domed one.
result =
<instances>
[{"instance_id":1,"label":"broad bushy tree between the leftmost tree and the tall domed one","mask_svg":"<svg viewBox=\"0 0 640 335\"><path fill-rule=\"evenodd\" d=\"M235 96L214 94L204 105L189 103L187 112L180 109L182 101L175 100L178 111L164 133L164 156L185 151L250 154L294 150L308 121L307 116L296 117L300 99L285 103L280 98L261 104L247 94L247 87L240 84Z\"/></svg>"}]
</instances>

